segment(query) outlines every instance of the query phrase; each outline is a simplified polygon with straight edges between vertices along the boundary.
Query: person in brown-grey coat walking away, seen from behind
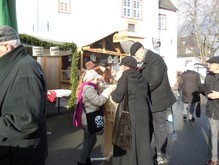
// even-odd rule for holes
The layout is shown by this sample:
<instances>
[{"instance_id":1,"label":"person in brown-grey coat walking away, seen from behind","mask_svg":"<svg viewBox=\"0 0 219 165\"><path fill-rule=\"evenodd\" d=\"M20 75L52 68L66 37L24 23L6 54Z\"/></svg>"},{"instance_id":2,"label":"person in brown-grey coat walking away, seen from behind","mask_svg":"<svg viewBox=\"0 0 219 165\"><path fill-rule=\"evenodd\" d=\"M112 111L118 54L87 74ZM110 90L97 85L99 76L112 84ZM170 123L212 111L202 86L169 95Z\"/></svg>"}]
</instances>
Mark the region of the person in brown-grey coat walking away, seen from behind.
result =
<instances>
[{"instance_id":1,"label":"person in brown-grey coat walking away, seen from behind","mask_svg":"<svg viewBox=\"0 0 219 165\"><path fill-rule=\"evenodd\" d=\"M187 64L187 70L182 73L179 81L179 93L182 93L183 119L195 121L194 111L200 104L201 79L199 73L194 71L194 65L190 62Z\"/></svg>"}]
</instances>

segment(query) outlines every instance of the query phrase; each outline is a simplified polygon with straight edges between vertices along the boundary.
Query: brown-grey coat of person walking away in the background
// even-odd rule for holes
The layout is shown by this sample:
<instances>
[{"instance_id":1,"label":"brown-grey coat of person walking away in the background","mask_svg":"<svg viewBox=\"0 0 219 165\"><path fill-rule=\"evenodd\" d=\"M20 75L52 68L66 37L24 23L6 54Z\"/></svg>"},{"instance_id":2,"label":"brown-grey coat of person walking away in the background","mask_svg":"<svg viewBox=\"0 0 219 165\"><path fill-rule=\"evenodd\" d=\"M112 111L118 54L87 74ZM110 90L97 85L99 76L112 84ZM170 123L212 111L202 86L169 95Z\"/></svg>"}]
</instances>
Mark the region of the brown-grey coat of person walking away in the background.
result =
<instances>
[{"instance_id":1,"label":"brown-grey coat of person walking away in the background","mask_svg":"<svg viewBox=\"0 0 219 165\"><path fill-rule=\"evenodd\" d=\"M187 70L182 73L179 81L179 90L182 91L182 101L184 103L200 102L200 76L197 72Z\"/></svg>"}]
</instances>

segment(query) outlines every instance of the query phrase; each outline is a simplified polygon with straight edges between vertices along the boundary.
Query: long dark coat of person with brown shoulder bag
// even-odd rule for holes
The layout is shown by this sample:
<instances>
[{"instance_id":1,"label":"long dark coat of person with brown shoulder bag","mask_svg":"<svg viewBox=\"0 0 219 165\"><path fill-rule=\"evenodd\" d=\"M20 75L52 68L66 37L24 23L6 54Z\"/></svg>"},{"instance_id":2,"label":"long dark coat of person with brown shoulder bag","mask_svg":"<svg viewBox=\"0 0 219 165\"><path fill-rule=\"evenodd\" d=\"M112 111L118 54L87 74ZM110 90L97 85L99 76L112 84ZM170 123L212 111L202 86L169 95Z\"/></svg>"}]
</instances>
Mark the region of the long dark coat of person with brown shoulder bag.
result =
<instances>
[{"instance_id":1,"label":"long dark coat of person with brown shoulder bag","mask_svg":"<svg viewBox=\"0 0 219 165\"><path fill-rule=\"evenodd\" d=\"M111 96L119 103L125 94L126 74L128 76L128 102L132 124L132 146L126 152L114 147L113 165L153 165L149 138L149 106L147 82L134 69L126 70L118 80Z\"/></svg>"}]
</instances>

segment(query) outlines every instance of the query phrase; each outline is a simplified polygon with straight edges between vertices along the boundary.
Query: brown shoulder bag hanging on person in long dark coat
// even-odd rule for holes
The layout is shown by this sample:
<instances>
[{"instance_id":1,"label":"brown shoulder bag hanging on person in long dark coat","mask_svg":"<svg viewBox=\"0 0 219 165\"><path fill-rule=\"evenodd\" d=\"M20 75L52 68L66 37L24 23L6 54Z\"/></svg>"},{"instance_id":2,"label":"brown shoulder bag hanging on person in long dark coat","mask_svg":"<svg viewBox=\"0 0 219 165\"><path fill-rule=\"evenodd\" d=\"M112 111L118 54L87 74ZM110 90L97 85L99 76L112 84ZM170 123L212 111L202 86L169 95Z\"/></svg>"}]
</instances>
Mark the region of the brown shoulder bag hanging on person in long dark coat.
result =
<instances>
[{"instance_id":1,"label":"brown shoulder bag hanging on person in long dark coat","mask_svg":"<svg viewBox=\"0 0 219 165\"><path fill-rule=\"evenodd\" d=\"M127 78L127 77L126 77ZM128 105L128 78L123 100L119 103L113 125L112 143L122 150L130 148L132 143L131 119Z\"/></svg>"}]
</instances>

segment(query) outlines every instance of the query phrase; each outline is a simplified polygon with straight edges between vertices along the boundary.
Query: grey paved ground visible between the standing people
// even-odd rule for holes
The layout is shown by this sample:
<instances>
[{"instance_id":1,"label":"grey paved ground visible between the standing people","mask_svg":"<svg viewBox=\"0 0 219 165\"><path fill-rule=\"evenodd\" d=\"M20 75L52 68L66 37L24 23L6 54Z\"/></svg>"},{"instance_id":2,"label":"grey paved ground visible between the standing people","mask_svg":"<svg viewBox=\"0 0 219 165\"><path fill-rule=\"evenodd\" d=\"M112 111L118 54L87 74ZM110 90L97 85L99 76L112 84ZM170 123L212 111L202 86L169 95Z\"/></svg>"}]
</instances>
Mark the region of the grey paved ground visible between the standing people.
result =
<instances>
[{"instance_id":1,"label":"grey paved ground visible between the standing people","mask_svg":"<svg viewBox=\"0 0 219 165\"><path fill-rule=\"evenodd\" d=\"M48 140L49 156L47 165L77 165L79 150L82 147L82 130L72 126L72 112L66 112L66 100L61 102L61 113L58 114L55 104L48 108ZM181 116L182 104L174 104L174 123L167 121L169 128L168 155L169 165L204 165L208 159L208 125L204 115L205 105L202 105L201 118L195 122L183 121ZM100 145L101 134L97 136L98 142L92 157L102 157ZM103 165L111 165L109 161L95 162Z\"/></svg>"}]
</instances>

